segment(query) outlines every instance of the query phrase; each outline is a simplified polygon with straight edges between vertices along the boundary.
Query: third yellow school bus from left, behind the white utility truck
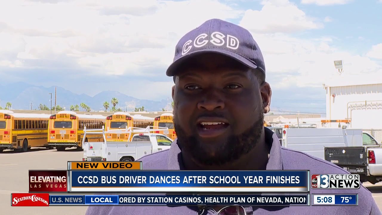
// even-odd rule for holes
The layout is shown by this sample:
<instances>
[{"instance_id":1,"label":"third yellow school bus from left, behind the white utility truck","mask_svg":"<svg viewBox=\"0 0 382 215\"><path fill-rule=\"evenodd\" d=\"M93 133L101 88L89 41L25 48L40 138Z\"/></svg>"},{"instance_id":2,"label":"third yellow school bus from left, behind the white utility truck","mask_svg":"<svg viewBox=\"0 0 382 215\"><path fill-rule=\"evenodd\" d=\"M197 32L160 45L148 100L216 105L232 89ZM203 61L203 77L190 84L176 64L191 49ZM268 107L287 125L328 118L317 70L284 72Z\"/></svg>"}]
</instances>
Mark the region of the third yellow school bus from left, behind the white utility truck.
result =
<instances>
[{"instance_id":1,"label":"third yellow school bus from left, behind the white utility truck","mask_svg":"<svg viewBox=\"0 0 382 215\"><path fill-rule=\"evenodd\" d=\"M131 131L131 127L145 129L147 126L153 126L154 119L142 115L131 116L127 112L115 112L113 115L106 117L105 130L126 130ZM133 138L134 133L126 134L106 134L106 140L111 142L129 142ZM129 138L130 137L130 138Z\"/></svg>"}]
</instances>

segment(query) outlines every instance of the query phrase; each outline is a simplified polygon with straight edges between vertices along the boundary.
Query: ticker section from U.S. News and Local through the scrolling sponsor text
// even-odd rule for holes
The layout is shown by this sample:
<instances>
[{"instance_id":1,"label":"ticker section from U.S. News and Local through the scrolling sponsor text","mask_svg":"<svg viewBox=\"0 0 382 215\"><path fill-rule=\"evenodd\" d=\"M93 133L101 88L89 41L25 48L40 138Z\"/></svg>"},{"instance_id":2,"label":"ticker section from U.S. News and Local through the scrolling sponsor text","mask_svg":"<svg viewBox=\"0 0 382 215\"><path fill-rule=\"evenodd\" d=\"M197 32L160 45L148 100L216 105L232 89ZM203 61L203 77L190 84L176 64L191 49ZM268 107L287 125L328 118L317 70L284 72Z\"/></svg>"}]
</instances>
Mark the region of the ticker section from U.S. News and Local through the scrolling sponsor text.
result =
<instances>
[{"instance_id":1,"label":"ticker section from U.S. News and Local through the scrolling sponsor text","mask_svg":"<svg viewBox=\"0 0 382 215\"><path fill-rule=\"evenodd\" d=\"M49 206L63 205L129 205L129 206L191 206L191 205L267 205L308 206L309 194L246 194L246 195L49 195Z\"/></svg>"}]
</instances>

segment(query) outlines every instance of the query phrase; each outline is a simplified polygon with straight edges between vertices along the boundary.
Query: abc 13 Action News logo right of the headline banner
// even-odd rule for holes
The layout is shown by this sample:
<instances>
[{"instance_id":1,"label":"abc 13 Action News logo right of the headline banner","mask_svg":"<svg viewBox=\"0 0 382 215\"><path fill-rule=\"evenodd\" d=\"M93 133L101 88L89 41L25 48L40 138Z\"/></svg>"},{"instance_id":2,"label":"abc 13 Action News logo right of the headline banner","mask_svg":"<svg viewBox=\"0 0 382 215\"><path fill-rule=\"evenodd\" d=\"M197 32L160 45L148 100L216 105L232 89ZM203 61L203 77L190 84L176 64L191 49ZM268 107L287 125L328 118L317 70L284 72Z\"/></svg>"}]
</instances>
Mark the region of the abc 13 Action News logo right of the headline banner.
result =
<instances>
[{"instance_id":1,"label":"abc 13 Action News logo right of the headline banner","mask_svg":"<svg viewBox=\"0 0 382 215\"><path fill-rule=\"evenodd\" d=\"M314 189L359 189L359 174L312 174Z\"/></svg>"}]
</instances>

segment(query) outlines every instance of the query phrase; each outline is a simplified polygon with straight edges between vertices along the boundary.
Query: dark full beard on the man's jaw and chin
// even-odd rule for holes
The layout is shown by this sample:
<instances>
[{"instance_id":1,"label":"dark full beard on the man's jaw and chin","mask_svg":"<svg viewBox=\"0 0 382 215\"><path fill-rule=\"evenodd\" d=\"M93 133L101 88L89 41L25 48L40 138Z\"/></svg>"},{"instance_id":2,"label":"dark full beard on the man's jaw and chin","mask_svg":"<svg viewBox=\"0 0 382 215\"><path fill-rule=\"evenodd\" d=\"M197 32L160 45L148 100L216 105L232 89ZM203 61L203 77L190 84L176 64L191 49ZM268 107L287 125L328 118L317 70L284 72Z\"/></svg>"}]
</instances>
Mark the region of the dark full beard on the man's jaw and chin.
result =
<instances>
[{"instance_id":1,"label":"dark full beard on the man's jaw and chin","mask_svg":"<svg viewBox=\"0 0 382 215\"><path fill-rule=\"evenodd\" d=\"M174 117L173 123L178 138L178 146L202 165L222 166L231 163L248 154L260 141L264 130L264 113L261 111L257 115L258 119L251 127L241 134L230 135L225 142L217 144L214 153L203 147L203 143L197 138L196 132L193 135L186 135L185 130L176 123L176 117Z\"/></svg>"}]
</instances>

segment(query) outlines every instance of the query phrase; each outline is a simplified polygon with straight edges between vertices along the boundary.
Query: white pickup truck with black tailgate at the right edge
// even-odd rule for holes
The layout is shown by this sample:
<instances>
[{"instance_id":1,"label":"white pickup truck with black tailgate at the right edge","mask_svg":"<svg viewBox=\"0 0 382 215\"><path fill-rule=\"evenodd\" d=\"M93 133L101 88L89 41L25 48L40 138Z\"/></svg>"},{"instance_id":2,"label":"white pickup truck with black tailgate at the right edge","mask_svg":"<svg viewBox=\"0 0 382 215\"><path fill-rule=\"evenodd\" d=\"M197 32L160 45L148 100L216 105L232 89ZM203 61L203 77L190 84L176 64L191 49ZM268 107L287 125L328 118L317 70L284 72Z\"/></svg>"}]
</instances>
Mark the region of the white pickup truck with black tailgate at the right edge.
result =
<instances>
[{"instance_id":1,"label":"white pickup truck with black tailgate at the right edge","mask_svg":"<svg viewBox=\"0 0 382 215\"><path fill-rule=\"evenodd\" d=\"M325 147L325 160L376 184L382 181L382 147L370 134L362 137L359 147Z\"/></svg>"}]
</instances>

